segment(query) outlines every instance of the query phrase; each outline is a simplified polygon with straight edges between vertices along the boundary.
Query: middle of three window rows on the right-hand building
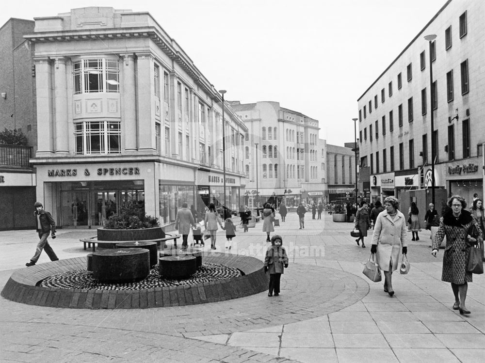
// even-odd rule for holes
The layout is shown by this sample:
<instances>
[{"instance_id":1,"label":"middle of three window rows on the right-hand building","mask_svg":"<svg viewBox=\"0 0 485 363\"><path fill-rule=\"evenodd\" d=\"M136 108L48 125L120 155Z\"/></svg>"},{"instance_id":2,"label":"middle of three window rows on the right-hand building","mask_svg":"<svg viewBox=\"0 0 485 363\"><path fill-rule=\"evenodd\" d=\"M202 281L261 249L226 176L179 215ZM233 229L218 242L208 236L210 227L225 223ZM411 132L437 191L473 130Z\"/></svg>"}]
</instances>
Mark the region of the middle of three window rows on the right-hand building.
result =
<instances>
[{"instance_id":1,"label":"middle of three window rows on the right-hand building","mask_svg":"<svg viewBox=\"0 0 485 363\"><path fill-rule=\"evenodd\" d=\"M469 70L468 70L468 59L460 64L460 80L461 80L461 95L466 95L469 93ZM426 115L427 113L427 92L426 88L421 90L421 115ZM446 99L450 103L454 100L454 76L453 69L446 74ZM431 107L436 110L438 107L438 95L437 95L437 80L433 82L432 94L431 94ZM398 106L398 126L403 126L404 114L403 114L403 104ZM414 120L414 99L409 97L407 99L407 121L413 122ZM386 115L381 118L381 133L386 135ZM388 114L388 127L389 132L394 130L394 113L393 110L389 111ZM369 138L372 142L373 132L375 132L375 139L379 138L379 120L374 122L374 128L372 130L372 124L369 125ZM363 138L362 138L363 137ZM364 127L363 134L362 129L359 131L359 140L367 140L367 127Z\"/></svg>"}]
</instances>

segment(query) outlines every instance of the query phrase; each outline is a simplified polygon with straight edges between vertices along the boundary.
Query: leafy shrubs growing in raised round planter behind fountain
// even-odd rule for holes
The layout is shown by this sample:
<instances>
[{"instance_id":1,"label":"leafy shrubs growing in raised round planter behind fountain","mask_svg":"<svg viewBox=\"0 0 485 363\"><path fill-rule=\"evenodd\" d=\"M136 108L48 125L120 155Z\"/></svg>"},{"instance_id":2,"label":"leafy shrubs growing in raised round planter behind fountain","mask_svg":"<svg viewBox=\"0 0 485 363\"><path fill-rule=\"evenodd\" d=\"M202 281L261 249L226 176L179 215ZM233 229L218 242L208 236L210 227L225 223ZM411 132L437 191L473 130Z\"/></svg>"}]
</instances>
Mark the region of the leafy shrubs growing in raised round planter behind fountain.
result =
<instances>
[{"instance_id":1,"label":"leafy shrubs growing in raised round planter behind fountain","mask_svg":"<svg viewBox=\"0 0 485 363\"><path fill-rule=\"evenodd\" d=\"M159 227L158 218L146 215L145 207L128 202L121 207L120 214L109 218L107 229L140 229Z\"/></svg>"}]
</instances>

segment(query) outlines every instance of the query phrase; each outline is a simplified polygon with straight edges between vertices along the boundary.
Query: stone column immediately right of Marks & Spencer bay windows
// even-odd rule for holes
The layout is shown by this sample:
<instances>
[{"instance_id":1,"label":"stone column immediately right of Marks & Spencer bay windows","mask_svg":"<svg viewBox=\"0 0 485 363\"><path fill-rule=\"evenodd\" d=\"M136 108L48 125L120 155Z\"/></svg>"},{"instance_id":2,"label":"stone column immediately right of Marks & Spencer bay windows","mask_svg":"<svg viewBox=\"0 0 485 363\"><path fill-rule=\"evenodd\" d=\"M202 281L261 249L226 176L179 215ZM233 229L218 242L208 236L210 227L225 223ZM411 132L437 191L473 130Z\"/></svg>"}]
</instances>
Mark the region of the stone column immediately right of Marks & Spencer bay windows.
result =
<instances>
[{"instance_id":1,"label":"stone column immediately right of Marks & Spencer bay windows","mask_svg":"<svg viewBox=\"0 0 485 363\"><path fill-rule=\"evenodd\" d=\"M135 76L134 57L133 55L125 55L123 57L123 82L121 88L121 127L125 140L125 151L128 153L135 152L137 149Z\"/></svg>"}]
</instances>

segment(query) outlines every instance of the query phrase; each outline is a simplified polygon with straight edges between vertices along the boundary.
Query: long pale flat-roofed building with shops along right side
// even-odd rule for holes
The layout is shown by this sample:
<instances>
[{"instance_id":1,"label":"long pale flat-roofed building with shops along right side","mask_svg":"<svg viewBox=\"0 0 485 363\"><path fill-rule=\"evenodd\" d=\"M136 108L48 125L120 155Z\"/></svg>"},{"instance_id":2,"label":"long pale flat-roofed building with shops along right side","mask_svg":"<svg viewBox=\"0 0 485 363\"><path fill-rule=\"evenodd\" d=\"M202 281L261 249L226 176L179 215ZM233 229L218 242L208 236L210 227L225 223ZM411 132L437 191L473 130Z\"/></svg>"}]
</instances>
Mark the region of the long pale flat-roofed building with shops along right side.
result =
<instances>
[{"instance_id":1,"label":"long pale flat-roofed building with shops along right side","mask_svg":"<svg viewBox=\"0 0 485 363\"><path fill-rule=\"evenodd\" d=\"M450 0L359 97L360 164L373 201L429 190L432 137L436 188L483 197L484 64L485 2Z\"/></svg>"}]
</instances>

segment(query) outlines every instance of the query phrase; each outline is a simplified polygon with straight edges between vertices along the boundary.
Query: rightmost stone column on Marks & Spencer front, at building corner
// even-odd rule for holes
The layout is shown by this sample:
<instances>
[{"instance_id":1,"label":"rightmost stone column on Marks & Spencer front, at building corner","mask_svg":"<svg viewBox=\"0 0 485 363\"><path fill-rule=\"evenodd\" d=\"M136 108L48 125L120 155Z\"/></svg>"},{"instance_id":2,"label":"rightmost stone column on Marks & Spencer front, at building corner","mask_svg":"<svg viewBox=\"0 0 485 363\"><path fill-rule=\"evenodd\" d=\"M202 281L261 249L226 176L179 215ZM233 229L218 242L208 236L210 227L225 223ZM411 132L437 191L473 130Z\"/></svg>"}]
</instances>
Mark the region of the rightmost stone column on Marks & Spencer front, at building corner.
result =
<instances>
[{"instance_id":1,"label":"rightmost stone column on Marks & Spencer front, at building corner","mask_svg":"<svg viewBox=\"0 0 485 363\"><path fill-rule=\"evenodd\" d=\"M152 117L152 90L153 90L153 62L148 54L137 54L137 79L138 91L138 137L139 151L156 154L155 146L155 121ZM163 127L163 123L162 123Z\"/></svg>"}]
</instances>

